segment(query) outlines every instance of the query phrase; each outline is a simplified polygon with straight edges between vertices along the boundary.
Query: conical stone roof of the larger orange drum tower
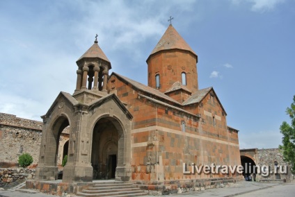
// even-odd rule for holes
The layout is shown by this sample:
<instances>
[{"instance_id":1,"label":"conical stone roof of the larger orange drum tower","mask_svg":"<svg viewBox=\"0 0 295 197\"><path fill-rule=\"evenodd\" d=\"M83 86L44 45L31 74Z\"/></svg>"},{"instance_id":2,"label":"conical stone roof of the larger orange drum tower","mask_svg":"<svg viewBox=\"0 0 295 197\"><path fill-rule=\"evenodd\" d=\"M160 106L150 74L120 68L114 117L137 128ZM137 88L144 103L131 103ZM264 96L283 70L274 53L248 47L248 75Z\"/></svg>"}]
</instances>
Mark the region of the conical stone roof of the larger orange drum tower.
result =
<instances>
[{"instance_id":1,"label":"conical stone roof of the larger orange drum tower","mask_svg":"<svg viewBox=\"0 0 295 197\"><path fill-rule=\"evenodd\" d=\"M171 24L168 26L166 32L161 37L161 40L158 42L157 46L154 47L154 50L152 50L152 53L150 53L150 55L168 49L182 49L185 51L190 51L191 53L193 53L193 55L197 56L195 51L191 49L191 46L189 46L189 44L185 42L182 36L175 30L175 28Z\"/></svg>"}]
</instances>

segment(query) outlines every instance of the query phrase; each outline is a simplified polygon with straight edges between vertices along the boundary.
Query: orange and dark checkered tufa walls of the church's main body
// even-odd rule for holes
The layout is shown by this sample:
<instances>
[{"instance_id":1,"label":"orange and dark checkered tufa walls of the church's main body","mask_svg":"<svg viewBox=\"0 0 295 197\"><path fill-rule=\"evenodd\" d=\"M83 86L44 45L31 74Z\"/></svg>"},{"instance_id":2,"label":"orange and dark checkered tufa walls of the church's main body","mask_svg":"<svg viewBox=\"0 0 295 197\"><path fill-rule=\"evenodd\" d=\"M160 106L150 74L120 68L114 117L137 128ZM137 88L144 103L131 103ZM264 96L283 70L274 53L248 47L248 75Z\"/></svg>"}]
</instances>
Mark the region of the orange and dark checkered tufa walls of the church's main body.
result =
<instances>
[{"instance_id":1,"label":"orange and dark checkered tufa walls of the church's main body","mask_svg":"<svg viewBox=\"0 0 295 197\"><path fill-rule=\"evenodd\" d=\"M237 130L228 130L226 113L213 90L201 103L185 107L175 105L189 111L185 112L175 109L173 103L168 101L157 103L141 96L148 93L132 87L115 75L111 76L109 87L127 104L134 117L130 142L132 180L148 184L239 176L183 172L184 163L190 171L191 163L197 166L241 164Z\"/></svg>"}]
</instances>

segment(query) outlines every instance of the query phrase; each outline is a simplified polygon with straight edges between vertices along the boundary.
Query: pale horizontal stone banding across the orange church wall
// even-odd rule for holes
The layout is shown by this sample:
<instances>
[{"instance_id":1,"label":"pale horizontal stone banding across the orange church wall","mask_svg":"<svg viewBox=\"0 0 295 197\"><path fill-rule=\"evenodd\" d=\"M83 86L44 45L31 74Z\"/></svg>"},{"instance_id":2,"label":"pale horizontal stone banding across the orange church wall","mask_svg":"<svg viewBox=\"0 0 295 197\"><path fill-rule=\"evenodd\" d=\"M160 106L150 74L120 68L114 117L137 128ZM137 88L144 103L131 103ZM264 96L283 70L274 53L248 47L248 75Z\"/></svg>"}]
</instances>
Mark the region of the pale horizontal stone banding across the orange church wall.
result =
<instances>
[{"instance_id":1,"label":"pale horizontal stone banding across the orange church wall","mask_svg":"<svg viewBox=\"0 0 295 197\"><path fill-rule=\"evenodd\" d=\"M188 133L188 132L182 132L180 130L173 130L173 129L169 129L169 128L164 128L164 127L161 127L161 126L149 126L149 127L145 127L145 128L133 129L133 130L131 130L131 133L146 132L146 131L149 131L149 130L161 130L161 131L164 131L164 132L170 132L170 133L174 133L174 134L177 134L177 135L184 135L186 137L192 137L192 138L196 138L196 139L206 140L206 141L209 141L209 142L227 144L227 145L230 145L230 146L239 147L239 144L234 144L232 142L225 142L225 141L220 140L220 139L212 139L210 137L200 136L200 135L196 135L196 134L192 134L192 133ZM148 142L141 142L141 143L131 144L131 148L141 147L141 146L148 146Z\"/></svg>"}]
</instances>

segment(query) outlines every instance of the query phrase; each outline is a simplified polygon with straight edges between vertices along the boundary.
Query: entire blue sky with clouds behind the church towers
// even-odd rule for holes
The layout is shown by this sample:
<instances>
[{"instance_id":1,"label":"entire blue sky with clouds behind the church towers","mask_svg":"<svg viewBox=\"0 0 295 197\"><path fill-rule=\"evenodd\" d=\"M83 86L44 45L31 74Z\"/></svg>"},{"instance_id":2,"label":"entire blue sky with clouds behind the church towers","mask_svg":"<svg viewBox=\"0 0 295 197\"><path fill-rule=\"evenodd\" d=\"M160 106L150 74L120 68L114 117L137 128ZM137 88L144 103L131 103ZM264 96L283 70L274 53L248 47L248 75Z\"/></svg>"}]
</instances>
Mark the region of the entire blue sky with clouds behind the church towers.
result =
<instances>
[{"instance_id":1,"label":"entire blue sky with clouds behind the church towers","mask_svg":"<svg viewBox=\"0 0 295 197\"><path fill-rule=\"evenodd\" d=\"M292 0L0 0L0 112L41 120L60 91L74 92L75 62L96 33L111 71L146 85L145 60L170 16L240 148L277 148L295 94Z\"/></svg>"}]
</instances>

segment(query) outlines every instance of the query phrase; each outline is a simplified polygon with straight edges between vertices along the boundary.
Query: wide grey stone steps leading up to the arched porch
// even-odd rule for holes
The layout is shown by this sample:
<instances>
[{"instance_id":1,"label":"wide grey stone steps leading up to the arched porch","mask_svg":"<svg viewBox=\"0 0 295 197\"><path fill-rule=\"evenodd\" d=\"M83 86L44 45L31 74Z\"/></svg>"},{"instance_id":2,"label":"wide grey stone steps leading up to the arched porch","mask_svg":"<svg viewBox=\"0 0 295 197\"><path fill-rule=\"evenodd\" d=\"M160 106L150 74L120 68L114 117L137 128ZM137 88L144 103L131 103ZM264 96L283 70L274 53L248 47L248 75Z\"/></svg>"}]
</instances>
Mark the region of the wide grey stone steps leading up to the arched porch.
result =
<instances>
[{"instance_id":1,"label":"wide grey stone steps leading up to the arched porch","mask_svg":"<svg viewBox=\"0 0 295 197\"><path fill-rule=\"evenodd\" d=\"M112 182L97 182L95 185L88 187L77 193L77 196L109 196L109 197L131 197L131 196L145 196L141 189L137 188L131 183L125 183L122 181Z\"/></svg>"}]
</instances>

